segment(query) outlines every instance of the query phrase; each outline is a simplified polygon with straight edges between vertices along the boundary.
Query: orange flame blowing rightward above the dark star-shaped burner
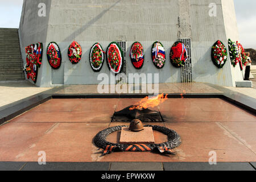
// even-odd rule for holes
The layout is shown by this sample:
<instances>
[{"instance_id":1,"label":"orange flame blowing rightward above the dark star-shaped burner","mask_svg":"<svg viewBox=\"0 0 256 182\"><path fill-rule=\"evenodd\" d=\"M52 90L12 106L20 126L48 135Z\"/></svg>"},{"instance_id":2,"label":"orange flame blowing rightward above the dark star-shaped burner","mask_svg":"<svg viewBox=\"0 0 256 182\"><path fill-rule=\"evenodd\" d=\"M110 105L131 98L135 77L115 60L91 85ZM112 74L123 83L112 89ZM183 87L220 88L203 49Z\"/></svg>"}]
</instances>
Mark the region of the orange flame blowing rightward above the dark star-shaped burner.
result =
<instances>
[{"instance_id":1,"label":"orange flame blowing rightward above the dark star-shaped burner","mask_svg":"<svg viewBox=\"0 0 256 182\"><path fill-rule=\"evenodd\" d=\"M168 94L166 94L166 96L164 97L164 94L159 94L158 96L154 97L154 98L148 98L145 97L143 98L141 101L139 101L136 106L130 107L130 110L134 110L134 109L147 109L148 107L156 107L159 104L162 104L164 101L166 101Z\"/></svg>"}]
</instances>

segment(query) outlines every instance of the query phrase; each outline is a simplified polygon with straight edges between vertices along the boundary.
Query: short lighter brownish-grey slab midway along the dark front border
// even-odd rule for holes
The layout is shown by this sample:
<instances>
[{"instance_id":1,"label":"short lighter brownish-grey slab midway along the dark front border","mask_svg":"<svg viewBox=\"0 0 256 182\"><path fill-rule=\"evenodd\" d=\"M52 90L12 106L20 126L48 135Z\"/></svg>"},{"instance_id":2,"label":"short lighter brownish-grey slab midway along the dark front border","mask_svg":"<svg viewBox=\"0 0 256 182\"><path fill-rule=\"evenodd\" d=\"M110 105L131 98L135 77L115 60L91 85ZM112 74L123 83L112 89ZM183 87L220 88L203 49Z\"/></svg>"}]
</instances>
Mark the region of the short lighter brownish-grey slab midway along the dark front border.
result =
<instances>
[{"instance_id":1,"label":"short lighter brownish-grey slab midway along the dark front border","mask_svg":"<svg viewBox=\"0 0 256 182\"><path fill-rule=\"evenodd\" d=\"M162 163L111 163L110 171L163 171Z\"/></svg>"}]
</instances>

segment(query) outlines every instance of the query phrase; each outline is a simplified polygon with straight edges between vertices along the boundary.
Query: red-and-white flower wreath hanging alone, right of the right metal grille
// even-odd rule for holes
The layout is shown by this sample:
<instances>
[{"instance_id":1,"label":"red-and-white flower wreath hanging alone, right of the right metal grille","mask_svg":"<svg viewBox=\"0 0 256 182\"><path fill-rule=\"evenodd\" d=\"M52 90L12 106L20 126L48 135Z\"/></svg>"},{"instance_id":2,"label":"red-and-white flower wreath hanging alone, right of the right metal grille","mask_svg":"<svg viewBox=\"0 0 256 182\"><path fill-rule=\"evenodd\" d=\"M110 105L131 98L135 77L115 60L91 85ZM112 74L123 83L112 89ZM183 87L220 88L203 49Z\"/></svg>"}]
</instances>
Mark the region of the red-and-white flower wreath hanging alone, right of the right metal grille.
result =
<instances>
[{"instance_id":1,"label":"red-and-white flower wreath hanging alone, right of the right metal grille","mask_svg":"<svg viewBox=\"0 0 256 182\"><path fill-rule=\"evenodd\" d=\"M218 40L212 47L212 61L216 67L223 68L227 59L228 53L226 47Z\"/></svg>"}]
</instances>

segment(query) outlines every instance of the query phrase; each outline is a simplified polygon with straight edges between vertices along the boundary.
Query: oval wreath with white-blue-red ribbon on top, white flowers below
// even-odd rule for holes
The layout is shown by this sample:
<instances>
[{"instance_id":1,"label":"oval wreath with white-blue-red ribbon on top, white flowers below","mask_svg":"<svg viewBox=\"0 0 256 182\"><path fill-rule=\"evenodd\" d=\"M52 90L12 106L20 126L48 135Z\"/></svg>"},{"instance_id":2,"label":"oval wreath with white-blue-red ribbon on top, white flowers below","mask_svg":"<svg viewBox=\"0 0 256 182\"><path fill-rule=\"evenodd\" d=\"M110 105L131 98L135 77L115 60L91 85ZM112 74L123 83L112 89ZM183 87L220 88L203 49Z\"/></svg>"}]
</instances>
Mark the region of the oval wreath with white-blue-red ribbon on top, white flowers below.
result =
<instances>
[{"instance_id":1,"label":"oval wreath with white-blue-red ribbon on top, white flowers below","mask_svg":"<svg viewBox=\"0 0 256 182\"><path fill-rule=\"evenodd\" d=\"M163 44L155 42L152 46L152 60L156 68L160 69L164 67L166 63L166 51Z\"/></svg>"}]
</instances>

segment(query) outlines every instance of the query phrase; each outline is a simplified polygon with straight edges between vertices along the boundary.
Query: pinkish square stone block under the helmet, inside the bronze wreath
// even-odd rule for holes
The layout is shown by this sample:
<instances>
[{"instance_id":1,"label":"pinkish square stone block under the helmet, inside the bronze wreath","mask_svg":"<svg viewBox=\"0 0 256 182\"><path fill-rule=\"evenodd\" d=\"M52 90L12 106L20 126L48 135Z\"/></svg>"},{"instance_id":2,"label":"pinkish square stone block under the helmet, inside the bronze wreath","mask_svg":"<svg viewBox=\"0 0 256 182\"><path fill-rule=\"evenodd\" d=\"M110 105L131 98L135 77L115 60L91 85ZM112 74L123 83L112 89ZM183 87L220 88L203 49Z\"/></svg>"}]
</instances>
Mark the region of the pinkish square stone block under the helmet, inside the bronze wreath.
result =
<instances>
[{"instance_id":1,"label":"pinkish square stone block under the helmet, inside the bronze wreath","mask_svg":"<svg viewBox=\"0 0 256 182\"><path fill-rule=\"evenodd\" d=\"M123 127L121 131L121 144L151 144L155 143L152 127L144 127L139 132L129 131L129 127Z\"/></svg>"}]
</instances>

